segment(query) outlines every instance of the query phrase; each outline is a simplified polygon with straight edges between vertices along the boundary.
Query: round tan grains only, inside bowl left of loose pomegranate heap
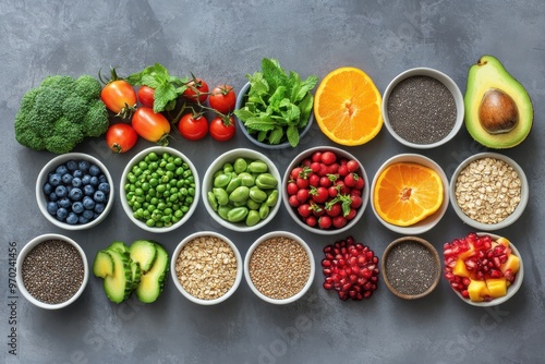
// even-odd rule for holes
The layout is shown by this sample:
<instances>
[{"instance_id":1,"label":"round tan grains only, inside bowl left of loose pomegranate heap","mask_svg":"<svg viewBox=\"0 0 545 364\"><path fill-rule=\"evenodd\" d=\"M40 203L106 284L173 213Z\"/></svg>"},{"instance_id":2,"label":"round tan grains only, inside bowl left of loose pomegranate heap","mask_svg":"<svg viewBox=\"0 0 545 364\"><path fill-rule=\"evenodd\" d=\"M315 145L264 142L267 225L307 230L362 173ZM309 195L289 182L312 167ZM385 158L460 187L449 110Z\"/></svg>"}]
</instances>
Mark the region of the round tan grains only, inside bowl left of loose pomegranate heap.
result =
<instances>
[{"instance_id":1,"label":"round tan grains only, inside bowl left of loose pomegranate heap","mask_svg":"<svg viewBox=\"0 0 545 364\"><path fill-rule=\"evenodd\" d=\"M295 240L276 236L257 245L250 257L249 272L257 291L274 300L284 300L304 288L311 275L311 260Z\"/></svg>"}]
</instances>

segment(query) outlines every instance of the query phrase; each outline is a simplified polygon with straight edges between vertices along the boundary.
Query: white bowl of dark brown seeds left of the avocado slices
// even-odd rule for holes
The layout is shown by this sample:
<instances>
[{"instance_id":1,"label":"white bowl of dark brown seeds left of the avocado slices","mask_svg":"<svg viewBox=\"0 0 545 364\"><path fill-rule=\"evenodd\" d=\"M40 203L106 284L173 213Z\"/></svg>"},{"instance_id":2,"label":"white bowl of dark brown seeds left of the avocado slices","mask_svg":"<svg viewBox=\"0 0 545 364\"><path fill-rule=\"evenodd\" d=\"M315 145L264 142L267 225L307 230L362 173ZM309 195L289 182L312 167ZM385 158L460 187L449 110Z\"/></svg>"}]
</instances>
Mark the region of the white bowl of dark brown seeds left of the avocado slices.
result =
<instances>
[{"instance_id":1,"label":"white bowl of dark brown seeds left of the avocado slices","mask_svg":"<svg viewBox=\"0 0 545 364\"><path fill-rule=\"evenodd\" d=\"M69 306L83 293L89 278L87 257L72 239L43 234L31 240L16 260L16 282L23 296L46 310Z\"/></svg>"}]
</instances>

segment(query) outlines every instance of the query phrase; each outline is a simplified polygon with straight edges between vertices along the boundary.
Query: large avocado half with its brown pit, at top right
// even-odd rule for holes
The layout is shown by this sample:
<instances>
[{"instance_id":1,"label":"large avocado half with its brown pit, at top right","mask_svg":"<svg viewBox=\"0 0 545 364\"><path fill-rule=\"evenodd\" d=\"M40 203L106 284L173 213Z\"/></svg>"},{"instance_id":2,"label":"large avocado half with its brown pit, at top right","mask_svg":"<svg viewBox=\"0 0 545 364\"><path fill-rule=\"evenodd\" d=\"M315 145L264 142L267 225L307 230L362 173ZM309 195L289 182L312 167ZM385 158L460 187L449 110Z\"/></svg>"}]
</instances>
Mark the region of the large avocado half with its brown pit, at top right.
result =
<instances>
[{"instance_id":1,"label":"large avocado half with its brown pit, at top right","mask_svg":"<svg viewBox=\"0 0 545 364\"><path fill-rule=\"evenodd\" d=\"M468 132L486 147L514 147L532 130L528 92L493 56L481 57L470 68L463 102Z\"/></svg>"}]
</instances>

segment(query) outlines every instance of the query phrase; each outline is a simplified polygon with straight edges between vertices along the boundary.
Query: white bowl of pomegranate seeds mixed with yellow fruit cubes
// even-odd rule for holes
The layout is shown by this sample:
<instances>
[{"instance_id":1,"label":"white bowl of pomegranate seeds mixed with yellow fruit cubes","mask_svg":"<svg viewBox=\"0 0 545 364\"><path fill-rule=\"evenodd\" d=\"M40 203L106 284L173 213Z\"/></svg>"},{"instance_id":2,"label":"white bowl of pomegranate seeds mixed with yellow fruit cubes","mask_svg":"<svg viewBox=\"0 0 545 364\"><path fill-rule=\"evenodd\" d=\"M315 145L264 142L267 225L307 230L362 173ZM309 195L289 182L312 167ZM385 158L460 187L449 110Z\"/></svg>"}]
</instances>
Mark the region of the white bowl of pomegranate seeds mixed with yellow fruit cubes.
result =
<instances>
[{"instance_id":1,"label":"white bowl of pomegranate seeds mixed with yellow fruit cubes","mask_svg":"<svg viewBox=\"0 0 545 364\"><path fill-rule=\"evenodd\" d=\"M445 278L456 294L474 306L495 306L512 298L524 268L517 247L506 238L471 232L444 245Z\"/></svg>"}]
</instances>

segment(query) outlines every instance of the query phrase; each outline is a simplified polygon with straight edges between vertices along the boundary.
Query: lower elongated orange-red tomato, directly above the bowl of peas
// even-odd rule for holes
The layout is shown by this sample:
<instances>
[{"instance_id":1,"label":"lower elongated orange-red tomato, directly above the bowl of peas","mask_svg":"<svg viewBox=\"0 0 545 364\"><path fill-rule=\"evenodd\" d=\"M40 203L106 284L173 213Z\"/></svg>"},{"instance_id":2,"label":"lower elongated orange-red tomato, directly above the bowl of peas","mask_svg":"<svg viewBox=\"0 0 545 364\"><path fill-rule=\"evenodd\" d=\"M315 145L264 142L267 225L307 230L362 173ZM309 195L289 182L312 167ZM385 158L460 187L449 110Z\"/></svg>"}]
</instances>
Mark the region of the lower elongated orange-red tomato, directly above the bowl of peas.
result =
<instances>
[{"instance_id":1,"label":"lower elongated orange-red tomato, directly above the bowl of peas","mask_svg":"<svg viewBox=\"0 0 545 364\"><path fill-rule=\"evenodd\" d=\"M146 141L168 145L170 123L162 113L155 113L154 109L143 106L134 112L131 124Z\"/></svg>"}]
</instances>

